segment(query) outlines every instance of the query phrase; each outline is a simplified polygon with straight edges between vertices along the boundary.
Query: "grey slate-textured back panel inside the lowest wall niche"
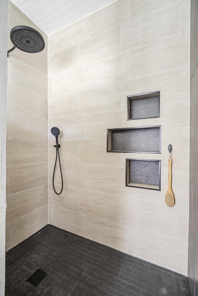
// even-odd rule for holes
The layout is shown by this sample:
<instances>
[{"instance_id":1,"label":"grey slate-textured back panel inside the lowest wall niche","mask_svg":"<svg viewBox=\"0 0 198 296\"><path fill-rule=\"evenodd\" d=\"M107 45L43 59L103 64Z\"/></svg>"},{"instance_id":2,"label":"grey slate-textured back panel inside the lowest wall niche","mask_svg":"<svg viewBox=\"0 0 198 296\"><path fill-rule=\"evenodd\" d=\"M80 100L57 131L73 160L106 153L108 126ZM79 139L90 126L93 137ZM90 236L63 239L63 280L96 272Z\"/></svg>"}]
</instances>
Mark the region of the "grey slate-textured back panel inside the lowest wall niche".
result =
<instances>
[{"instance_id":1,"label":"grey slate-textured back panel inside the lowest wall niche","mask_svg":"<svg viewBox=\"0 0 198 296\"><path fill-rule=\"evenodd\" d=\"M130 160L129 182L159 186L159 161Z\"/></svg>"}]
</instances>

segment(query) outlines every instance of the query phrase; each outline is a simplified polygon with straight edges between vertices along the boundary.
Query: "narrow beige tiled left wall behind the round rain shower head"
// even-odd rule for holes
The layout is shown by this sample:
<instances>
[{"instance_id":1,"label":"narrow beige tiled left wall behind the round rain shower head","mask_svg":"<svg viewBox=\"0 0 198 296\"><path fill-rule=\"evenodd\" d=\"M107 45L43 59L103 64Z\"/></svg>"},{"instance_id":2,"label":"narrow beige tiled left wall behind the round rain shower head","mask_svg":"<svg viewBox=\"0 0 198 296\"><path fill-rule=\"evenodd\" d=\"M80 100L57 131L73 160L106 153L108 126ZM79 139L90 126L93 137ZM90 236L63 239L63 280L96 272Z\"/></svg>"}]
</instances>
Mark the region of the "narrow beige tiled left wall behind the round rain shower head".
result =
<instances>
[{"instance_id":1,"label":"narrow beige tiled left wall behind the round rain shower head","mask_svg":"<svg viewBox=\"0 0 198 296\"><path fill-rule=\"evenodd\" d=\"M9 1L8 49L17 25L41 32L45 49L8 57L6 251L48 224L47 36Z\"/></svg>"}]
</instances>

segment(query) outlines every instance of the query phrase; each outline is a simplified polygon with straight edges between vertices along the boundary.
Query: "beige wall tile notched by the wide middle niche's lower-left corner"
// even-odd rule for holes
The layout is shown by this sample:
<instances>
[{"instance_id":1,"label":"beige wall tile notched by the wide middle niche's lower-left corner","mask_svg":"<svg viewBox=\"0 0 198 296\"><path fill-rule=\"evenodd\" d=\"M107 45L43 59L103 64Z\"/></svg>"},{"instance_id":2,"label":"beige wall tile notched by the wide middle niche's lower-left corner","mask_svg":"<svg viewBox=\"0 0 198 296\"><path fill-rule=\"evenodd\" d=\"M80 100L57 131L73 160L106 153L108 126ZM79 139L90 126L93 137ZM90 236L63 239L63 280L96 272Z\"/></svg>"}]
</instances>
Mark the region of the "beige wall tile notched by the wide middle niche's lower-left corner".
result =
<instances>
[{"instance_id":1,"label":"beige wall tile notched by the wide middle niche's lower-left corner","mask_svg":"<svg viewBox=\"0 0 198 296\"><path fill-rule=\"evenodd\" d=\"M119 153L106 152L106 140L80 140L79 163L120 166Z\"/></svg>"}]
</instances>

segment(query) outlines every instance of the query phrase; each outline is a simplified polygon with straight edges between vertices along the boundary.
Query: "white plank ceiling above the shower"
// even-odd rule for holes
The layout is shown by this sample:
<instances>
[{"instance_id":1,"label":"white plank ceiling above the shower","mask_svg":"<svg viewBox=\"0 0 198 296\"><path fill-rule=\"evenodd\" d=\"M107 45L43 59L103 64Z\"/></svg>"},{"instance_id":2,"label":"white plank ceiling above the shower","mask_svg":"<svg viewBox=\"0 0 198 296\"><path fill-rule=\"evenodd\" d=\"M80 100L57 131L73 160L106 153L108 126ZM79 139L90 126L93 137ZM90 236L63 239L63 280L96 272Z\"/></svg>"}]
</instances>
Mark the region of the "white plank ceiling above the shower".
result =
<instances>
[{"instance_id":1,"label":"white plank ceiling above the shower","mask_svg":"<svg viewBox=\"0 0 198 296\"><path fill-rule=\"evenodd\" d=\"M51 34L116 0L11 0L46 34Z\"/></svg>"}]
</instances>

